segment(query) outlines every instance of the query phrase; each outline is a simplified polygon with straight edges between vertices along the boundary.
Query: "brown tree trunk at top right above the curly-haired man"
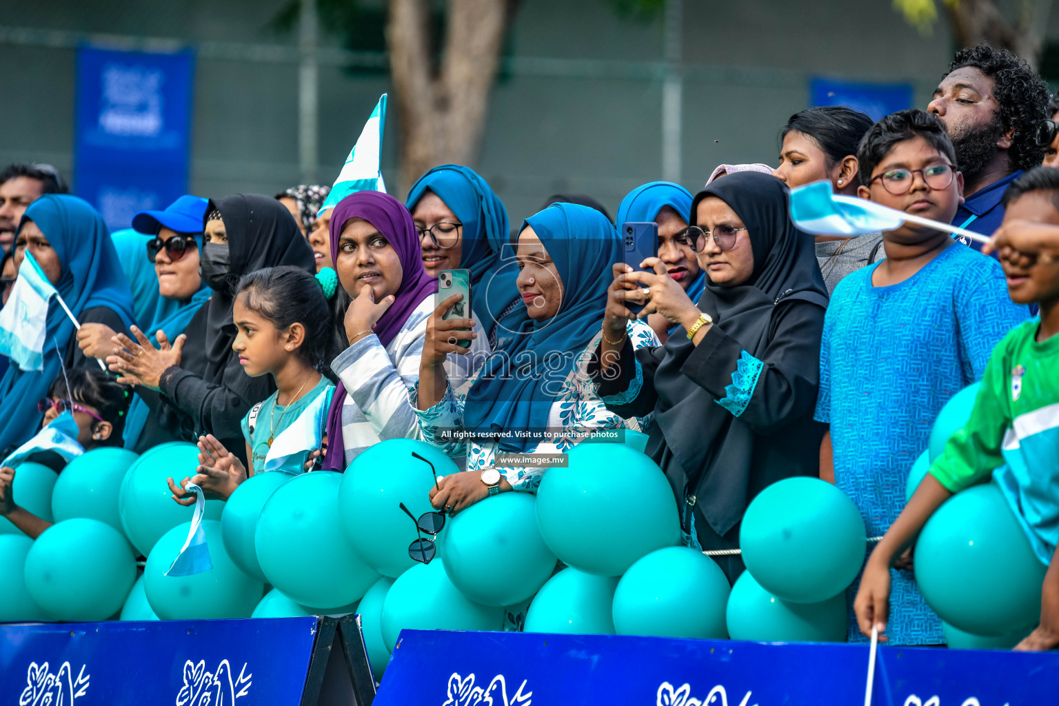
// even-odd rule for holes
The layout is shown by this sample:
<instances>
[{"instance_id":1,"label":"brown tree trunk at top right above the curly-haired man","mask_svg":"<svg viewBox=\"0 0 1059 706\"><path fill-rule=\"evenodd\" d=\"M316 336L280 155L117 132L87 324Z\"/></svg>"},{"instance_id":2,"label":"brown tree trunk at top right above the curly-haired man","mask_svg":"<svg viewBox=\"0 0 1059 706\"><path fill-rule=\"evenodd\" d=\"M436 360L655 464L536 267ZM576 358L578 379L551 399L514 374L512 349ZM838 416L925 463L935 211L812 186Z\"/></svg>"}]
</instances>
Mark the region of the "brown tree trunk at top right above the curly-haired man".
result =
<instances>
[{"instance_id":1,"label":"brown tree trunk at top right above the curly-haired man","mask_svg":"<svg viewBox=\"0 0 1059 706\"><path fill-rule=\"evenodd\" d=\"M993 0L955 0L945 4L959 47L987 41L993 47L1010 49L1035 69L1040 65L1052 0L1020 0L1013 22L1001 14Z\"/></svg>"}]
</instances>

